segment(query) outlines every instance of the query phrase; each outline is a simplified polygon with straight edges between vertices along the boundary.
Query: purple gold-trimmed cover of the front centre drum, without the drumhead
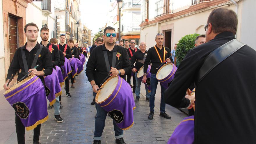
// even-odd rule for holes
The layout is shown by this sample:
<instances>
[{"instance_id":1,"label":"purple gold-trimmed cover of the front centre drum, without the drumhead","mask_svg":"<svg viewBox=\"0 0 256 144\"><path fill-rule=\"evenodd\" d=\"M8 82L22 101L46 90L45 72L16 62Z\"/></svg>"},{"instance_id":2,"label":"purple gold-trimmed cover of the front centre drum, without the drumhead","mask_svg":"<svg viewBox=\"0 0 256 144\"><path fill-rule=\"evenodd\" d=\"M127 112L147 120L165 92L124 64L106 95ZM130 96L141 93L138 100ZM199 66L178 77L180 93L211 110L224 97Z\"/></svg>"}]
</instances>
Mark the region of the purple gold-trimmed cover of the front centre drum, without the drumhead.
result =
<instances>
[{"instance_id":1,"label":"purple gold-trimmed cover of the front centre drum, without the drumhead","mask_svg":"<svg viewBox=\"0 0 256 144\"><path fill-rule=\"evenodd\" d=\"M104 102L97 102L97 97L101 90L96 95L96 102L105 110L108 111L118 127L123 130L131 128L134 124L133 110L136 108L134 103L134 97L131 91L129 83L119 76L118 83L112 93L112 95L104 100ZM112 77L112 78L113 78ZM109 78L103 85L110 80Z\"/></svg>"}]
</instances>

